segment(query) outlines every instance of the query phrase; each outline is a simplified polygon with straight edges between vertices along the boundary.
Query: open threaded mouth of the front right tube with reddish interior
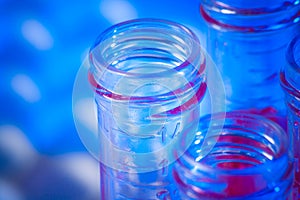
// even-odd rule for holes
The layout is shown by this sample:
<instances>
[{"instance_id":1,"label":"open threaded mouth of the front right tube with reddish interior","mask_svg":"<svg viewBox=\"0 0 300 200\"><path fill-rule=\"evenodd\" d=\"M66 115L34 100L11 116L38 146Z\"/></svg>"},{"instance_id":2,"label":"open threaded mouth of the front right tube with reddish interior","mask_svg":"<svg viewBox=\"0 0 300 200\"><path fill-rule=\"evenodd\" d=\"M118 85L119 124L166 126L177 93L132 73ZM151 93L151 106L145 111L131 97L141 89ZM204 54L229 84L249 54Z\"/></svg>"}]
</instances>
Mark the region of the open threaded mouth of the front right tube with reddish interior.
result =
<instances>
[{"instance_id":1,"label":"open threaded mouth of the front right tube with reddish interior","mask_svg":"<svg viewBox=\"0 0 300 200\"><path fill-rule=\"evenodd\" d=\"M214 122L223 117L215 114L200 119L194 143L179 159L184 166L193 168L196 173L199 170L200 174L204 170L235 175L262 174L284 168L283 159L289 159L289 144L279 125L255 114L229 112L224 126L214 127L218 124ZM206 135L209 126L213 134ZM204 140L205 137L208 138ZM214 146L210 147L209 143Z\"/></svg>"}]
</instances>

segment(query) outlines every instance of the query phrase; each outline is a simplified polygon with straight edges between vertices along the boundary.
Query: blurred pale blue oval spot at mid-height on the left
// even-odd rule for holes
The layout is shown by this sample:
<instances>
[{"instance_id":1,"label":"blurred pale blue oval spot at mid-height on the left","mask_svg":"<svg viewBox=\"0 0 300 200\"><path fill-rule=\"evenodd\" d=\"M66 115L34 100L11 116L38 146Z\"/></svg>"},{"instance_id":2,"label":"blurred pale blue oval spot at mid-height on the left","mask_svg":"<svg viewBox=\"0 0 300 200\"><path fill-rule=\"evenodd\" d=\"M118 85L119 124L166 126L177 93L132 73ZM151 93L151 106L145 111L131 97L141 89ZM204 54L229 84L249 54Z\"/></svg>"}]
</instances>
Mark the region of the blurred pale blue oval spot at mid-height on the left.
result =
<instances>
[{"instance_id":1,"label":"blurred pale blue oval spot at mid-height on the left","mask_svg":"<svg viewBox=\"0 0 300 200\"><path fill-rule=\"evenodd\" d=\"M25 101L34 103L41 99L41 93L37 85L24 74L15 75L11 81L11 86Z\"/></svg>"}]
</instances>

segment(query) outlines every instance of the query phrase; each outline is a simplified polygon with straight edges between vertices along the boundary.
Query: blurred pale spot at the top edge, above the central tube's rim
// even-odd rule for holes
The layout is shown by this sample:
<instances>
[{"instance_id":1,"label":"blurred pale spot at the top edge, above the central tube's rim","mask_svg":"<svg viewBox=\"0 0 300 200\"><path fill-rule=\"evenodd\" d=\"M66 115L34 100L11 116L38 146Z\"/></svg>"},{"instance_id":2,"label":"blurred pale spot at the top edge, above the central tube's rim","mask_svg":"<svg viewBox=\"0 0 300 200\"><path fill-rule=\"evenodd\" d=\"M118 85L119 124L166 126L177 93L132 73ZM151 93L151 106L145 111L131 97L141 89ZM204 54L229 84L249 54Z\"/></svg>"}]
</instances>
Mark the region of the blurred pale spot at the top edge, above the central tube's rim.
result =
<instances>
[{"instance_id":1,"label":"blurred pale spot at the top edge, above the central tube's rim","mask_svg":"<svg viewBox=\"0 0 300 200\"><path fill-rule=\"evenodd\" d=\"M126 0L101 1L100 12L112 24L137 18L135 8Z\"/></svg>"}]
</instances>

